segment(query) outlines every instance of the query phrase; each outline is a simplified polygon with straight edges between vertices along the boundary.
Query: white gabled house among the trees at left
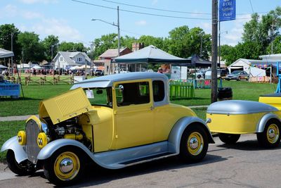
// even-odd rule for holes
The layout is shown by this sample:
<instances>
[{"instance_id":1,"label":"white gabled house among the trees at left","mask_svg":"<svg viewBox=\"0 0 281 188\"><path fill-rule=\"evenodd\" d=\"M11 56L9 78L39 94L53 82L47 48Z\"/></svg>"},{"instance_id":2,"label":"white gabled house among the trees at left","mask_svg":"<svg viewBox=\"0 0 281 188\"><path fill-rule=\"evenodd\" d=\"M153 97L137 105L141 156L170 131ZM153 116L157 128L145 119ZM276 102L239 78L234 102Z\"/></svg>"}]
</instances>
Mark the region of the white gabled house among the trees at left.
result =
<instances>
[{"instance_id":1,"label":"white gabled house among the trees at left","mask_svg":"<svg viewBox=\"0 0 281 188\"><path fill-rule=\"evenodd\" d=\"M85 52L81 51L59 51L53 58L56 68L69 69L77 65L91 65L91 59Z\"/></svg>"}]
</instances>

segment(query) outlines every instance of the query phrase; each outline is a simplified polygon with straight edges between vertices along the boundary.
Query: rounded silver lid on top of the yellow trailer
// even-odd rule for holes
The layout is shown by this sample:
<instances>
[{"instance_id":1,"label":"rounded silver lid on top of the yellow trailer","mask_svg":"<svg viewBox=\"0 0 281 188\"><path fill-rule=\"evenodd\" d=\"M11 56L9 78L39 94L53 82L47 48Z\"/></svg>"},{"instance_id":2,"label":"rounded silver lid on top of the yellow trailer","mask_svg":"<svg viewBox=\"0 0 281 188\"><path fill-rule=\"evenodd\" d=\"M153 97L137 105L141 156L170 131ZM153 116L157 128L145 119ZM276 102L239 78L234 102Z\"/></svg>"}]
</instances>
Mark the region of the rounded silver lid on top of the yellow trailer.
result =
<instances>
[{"instance_id":1,"label":"rounded silver lid on top of the yellow trailer","mask_svg":"<svg viewBox=\"0 0 281 188\"><path fill-rule=\"evenodd\" d=\"M268 104L242 100L218 101L207 108L207 113L209 114L226 115L268 113L274 111L278 111L278 109Z\"/></svg>"}]
</instances>

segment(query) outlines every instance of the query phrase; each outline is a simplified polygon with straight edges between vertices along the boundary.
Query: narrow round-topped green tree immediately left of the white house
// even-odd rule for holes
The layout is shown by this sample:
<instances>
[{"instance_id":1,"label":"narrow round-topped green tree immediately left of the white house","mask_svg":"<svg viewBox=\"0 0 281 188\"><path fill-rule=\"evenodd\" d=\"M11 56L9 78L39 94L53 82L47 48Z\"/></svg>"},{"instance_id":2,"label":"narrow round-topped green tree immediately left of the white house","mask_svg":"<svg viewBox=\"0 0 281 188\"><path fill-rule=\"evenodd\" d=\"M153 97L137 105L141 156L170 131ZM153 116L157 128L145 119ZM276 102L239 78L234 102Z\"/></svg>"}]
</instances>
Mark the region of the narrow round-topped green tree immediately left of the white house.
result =
<instances>
[{"instance_id":1,"label":"narrow round-topped green tree immediately left of the white house","mask_svg":"<svg viewBox=\"0 0 281 188\"><path fill-rule=\"evenodd\" d=\"M58 43L60 41L58 40L58 37L55 37L54 35L48 35L43 41L42 44L44 46L44 56L47 61L52 61L52 46L53 46L53 57L55 57L55 54L58 53Z\"/></svg>"}]
</instances>

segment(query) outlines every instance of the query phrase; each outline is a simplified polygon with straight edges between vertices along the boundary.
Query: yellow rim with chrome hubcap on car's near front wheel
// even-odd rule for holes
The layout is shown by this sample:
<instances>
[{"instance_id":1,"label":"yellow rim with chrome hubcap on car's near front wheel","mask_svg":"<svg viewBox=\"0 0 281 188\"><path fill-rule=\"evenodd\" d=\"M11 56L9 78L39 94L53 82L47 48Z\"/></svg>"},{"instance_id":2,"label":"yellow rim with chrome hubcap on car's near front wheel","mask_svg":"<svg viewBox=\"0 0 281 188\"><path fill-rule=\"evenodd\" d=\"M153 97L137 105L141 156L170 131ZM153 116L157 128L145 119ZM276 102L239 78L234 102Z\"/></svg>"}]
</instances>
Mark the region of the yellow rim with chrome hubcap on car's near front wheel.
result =
<instances>
[{"instance_id":1,"label":"yellow rim with chrome hubcap on car's near front wheel","mask_svg":"<svg viewBox=\"0 0 281 188\"><path fill-rule=\"evenodd\" d=\"M77 176L80 170L80 161L75 153L66 151L61 153L53 165L55 175L60 180L69 181Z\"/></svg>"}]
</instances>

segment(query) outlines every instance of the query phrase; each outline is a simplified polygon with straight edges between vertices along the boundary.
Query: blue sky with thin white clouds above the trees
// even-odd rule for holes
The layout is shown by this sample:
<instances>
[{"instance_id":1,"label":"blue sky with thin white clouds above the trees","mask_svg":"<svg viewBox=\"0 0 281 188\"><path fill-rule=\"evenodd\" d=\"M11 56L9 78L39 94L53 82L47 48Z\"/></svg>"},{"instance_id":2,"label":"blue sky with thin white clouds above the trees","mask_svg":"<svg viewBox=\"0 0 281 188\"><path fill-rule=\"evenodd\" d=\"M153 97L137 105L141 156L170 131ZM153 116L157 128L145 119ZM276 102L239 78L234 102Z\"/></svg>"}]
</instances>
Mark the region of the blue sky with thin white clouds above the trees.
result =
<instances>
[{"instance_id":1,"label":"blue sky with thin white clouds above the trees","mask_svg":"<svg viewBox=\"0 0 281 188\"><path fill-rule=\"evenodd\" d=\"M83 42L85 46L89 46L91 41L101 35L117 33L115 26L91 21L92 18L97 18L109 23L117 23L116 10L99 6L111 8L119 6L120 35L122 36L168 37L169 31L182 25L188 25L190 28L201 27L206 33L211 34L211 20L209 20L211 19L211 0L111 0L120 4L104 0L79 1L98 6L81 4L72 0L0 0L0 25L13 23L22 32L37 33L40 39L55 35L59 37L60 42ZM124 4L189 13L156 11ZM281 6L280 0L236 0L237 20L221 23L221 44L235 45L240 42L243 25L249 21L250 14L253 11L267 13L274 10L276 6ZM185 18L165 18L121 10Z\"/></svg>"}]
</instances>

